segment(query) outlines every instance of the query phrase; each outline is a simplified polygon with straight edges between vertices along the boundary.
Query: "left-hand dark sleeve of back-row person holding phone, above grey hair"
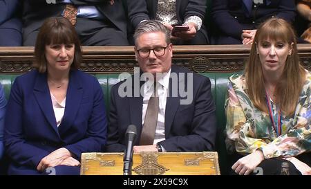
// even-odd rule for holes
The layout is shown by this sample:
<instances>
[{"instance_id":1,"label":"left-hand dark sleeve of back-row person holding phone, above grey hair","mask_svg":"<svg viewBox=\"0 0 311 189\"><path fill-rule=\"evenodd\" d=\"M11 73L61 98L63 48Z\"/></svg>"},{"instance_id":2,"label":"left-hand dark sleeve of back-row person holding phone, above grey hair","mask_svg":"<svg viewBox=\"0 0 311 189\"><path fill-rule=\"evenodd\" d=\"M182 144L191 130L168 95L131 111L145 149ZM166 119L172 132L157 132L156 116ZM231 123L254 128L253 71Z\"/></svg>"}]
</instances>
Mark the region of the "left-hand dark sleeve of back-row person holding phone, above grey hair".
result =
<instances>
[{"instance_id":1,"label":"left-hand dark sleeve of back-row person holding phone, above grey hair","mask_svg":"<svg viewBox=\"0 0 311 189\"><path fill-rule=\"evenodd\" d=\"M126 0L129 12L129 20L134 28L140 24L140 21L149 20L149 12L145 0Z\"/></svg>"}]
</instances>

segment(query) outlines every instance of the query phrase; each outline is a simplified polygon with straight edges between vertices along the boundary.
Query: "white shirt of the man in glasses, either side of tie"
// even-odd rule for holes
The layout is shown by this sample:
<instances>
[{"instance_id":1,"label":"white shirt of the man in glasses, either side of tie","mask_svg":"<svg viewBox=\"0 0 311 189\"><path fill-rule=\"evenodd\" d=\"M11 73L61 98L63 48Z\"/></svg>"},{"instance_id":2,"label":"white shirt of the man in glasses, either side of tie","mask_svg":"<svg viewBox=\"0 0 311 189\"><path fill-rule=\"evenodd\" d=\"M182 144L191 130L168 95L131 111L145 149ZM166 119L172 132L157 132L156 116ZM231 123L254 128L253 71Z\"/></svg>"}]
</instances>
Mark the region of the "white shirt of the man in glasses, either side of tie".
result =
<instances>
[{"instance_id":1,"label":"white shirt of the man in glasses, either side of tie","mask_svg":"<svg viewBox=\"0 0 311 189\"><path fill-rule=\"evenodd\" d=\"M158 123L156 126L156 134L154 136L153 144L165 140L165 107L167 105L167 92L169 89L169 75L171 74L171 69L169 72L162 75L162 78L158 80L158 96L159 96L159 111L158 111ZM148 80L144 84L144 98L142 102L142 125L144 125L144 117L146 116L146 111L148 107L148 102L153 94L153 81Z\"/></svg>"}]
</instances>

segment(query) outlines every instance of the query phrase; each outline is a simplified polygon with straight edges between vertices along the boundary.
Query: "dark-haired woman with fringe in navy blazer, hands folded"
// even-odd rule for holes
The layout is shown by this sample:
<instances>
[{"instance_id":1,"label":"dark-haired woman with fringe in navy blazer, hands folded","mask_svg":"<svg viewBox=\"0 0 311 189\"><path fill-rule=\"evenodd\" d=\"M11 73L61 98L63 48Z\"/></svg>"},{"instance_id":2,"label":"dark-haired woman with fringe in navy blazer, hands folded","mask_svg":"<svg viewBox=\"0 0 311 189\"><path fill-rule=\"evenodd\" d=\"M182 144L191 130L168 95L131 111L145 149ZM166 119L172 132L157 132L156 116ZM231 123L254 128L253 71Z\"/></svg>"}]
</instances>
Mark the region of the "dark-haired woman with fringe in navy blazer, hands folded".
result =
<instances>
[{"instance_id":1,"label":"dark-haired woman with fringe in navy blazer, hands folded","mask_svg":"<svg viewBox=\"0 0 311 189\"><path fill-rule=\"evenodd\" d=\"M8 174L79 174L82 152L100 152L106 144L102 88L77 70L81 60L70 22L46 19L35 45L35 70L15 79L8 100Z\"/></svg>"}]
</instances>

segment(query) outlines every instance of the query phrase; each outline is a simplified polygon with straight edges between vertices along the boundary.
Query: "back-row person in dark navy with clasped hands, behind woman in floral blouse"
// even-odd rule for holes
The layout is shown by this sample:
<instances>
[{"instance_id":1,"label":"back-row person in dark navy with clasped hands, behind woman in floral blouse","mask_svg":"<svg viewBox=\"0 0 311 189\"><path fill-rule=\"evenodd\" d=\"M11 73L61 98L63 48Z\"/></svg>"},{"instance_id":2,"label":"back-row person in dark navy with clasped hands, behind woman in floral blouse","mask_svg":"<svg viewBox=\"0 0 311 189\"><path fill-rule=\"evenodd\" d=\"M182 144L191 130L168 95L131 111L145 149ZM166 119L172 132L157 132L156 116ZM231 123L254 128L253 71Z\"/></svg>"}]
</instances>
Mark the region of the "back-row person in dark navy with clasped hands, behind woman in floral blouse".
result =
<instances>
[{"instance_id":1,"label":"back-row person in dark navy with clasped hands, behind woman in floral blouse","mask_svg":"<svg viewBox=\"0 0 311 189\"><path fill-rule=\"evenodd\" d=\"M279 17L292 22L294 0L217 0L212 4L216 29L211 44L252 44L263 21Z\"/></svg>"}]
</instances>

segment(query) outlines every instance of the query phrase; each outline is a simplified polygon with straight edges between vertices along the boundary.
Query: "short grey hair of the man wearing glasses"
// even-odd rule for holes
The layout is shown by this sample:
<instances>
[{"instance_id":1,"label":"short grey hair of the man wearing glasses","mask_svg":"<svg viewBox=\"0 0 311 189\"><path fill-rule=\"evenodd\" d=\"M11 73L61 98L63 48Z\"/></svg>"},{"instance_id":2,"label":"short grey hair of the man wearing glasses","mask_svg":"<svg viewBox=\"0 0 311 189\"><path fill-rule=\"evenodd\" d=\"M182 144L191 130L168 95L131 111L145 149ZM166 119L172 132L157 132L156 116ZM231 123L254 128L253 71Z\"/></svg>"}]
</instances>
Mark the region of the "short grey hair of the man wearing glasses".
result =
<instances>
[{"instance_id":1,"label":"short grey hair of the man wearing glasses","mask_svg":"<svg viewBox=\"0 0 311 189\"><path fill-rule=\"evenodd\" d=\"M140 22L138 24L138 27L135 30L135 33L133 35L135 46L136 46L136 40L140 35L144 33L150 33L150 32L162 32L165 35L165 42L167 44L171 43L171 32L165 27L160 21L157 20L145 20Z\"/></svg>"}]
</instances>

